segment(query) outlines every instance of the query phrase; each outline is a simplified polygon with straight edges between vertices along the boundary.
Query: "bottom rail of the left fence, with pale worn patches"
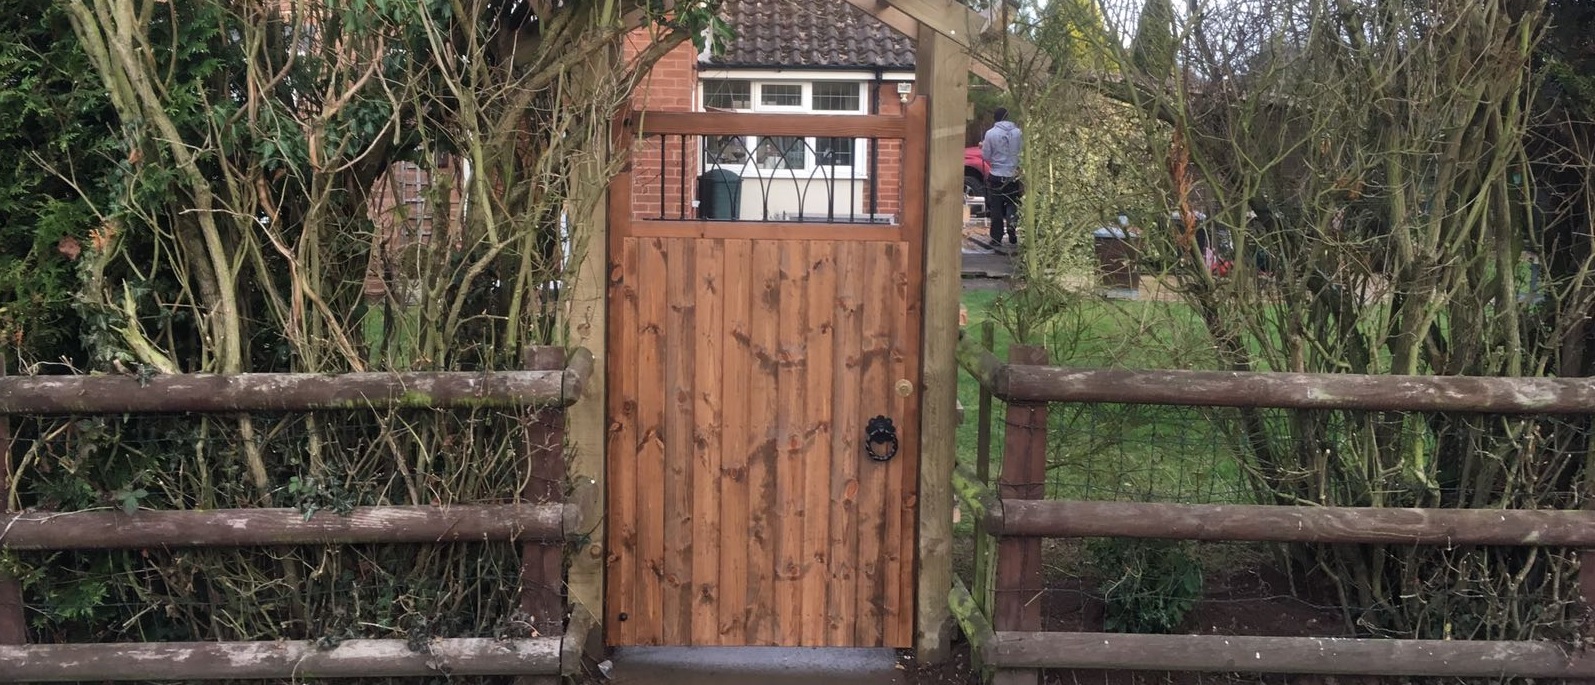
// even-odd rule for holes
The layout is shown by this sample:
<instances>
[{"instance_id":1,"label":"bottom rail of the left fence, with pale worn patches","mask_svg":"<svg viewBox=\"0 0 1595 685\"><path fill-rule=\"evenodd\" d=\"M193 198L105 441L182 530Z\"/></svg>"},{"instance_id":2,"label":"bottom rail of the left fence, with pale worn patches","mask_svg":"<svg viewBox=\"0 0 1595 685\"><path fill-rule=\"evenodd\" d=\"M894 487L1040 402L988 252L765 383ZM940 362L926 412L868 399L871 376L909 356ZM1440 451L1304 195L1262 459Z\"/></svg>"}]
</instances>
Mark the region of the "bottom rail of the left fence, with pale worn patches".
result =
<instances>
[{"instance_id":1,"label":"bottom rail of the left fence, with pale worn patches","mask_svg":"<svg viewBox=\"0 0 1595 685\"><path fill-rule=\"evenodd\" d=\"M0 682L558 675L560 639L134 642L0 647Z\"/></svg>"}]
</instances>

